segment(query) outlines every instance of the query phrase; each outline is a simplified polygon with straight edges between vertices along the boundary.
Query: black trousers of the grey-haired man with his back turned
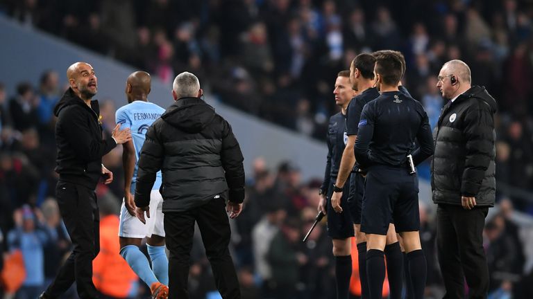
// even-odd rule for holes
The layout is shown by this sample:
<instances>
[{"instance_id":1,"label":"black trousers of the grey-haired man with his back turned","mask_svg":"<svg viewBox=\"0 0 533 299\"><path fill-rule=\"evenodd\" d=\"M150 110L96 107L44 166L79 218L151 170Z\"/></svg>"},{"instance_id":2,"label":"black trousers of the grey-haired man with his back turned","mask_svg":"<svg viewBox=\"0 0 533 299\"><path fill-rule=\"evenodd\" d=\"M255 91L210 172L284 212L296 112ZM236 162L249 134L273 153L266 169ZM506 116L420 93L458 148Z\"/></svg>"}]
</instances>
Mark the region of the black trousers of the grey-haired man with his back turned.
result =
<instances>
[{"instance_id":1,"label":"black trousers of the grey-haired man with his back turned","mask_svg":"<svg viewBox=\"0 0 533 299\"><path fill-rule=\"evenodd\" d=\"M195 221L222 298L241 298L235 265L228 250L231 230L222 198L212 199L192 210L164 213L165 241L170 252L169 298L189 298L187 279Z\"/></svg>"}]
</instances>

